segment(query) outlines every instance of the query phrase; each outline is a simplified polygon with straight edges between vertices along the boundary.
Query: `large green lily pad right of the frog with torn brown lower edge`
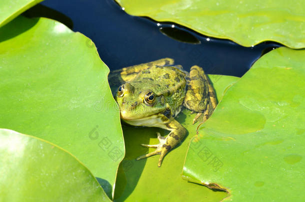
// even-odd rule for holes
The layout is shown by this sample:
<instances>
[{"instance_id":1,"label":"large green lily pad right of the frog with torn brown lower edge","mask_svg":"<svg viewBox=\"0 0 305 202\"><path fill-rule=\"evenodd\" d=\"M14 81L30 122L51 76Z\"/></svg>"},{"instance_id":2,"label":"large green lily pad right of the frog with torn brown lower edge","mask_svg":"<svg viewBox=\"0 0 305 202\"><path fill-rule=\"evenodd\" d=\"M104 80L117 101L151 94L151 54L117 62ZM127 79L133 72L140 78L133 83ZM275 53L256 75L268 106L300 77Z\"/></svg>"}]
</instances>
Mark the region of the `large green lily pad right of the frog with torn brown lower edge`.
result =
<instances>
[{"instance_id":1,"label":"large green lily pad right of the frog with torn brown lower edge","mask_svg":"<svg viewBox=\"0 0 305 202\"><path fill-rule=\"evenodd\" d=\"M305 199L305 50L262 56L199 127L186 180L224 189L233 201Z\"/></svg>"}]
</instances>

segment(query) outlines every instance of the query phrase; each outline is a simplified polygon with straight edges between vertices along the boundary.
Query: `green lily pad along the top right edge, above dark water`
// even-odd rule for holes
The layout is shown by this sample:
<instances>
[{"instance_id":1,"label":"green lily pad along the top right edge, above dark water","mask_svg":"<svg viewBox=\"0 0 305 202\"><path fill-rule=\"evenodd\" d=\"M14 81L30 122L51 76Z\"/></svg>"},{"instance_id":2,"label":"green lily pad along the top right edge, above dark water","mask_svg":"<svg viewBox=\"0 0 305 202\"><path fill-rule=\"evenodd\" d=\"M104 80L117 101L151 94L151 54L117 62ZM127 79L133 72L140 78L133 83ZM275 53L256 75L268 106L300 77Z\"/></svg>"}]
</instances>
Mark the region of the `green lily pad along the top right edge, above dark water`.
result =
<instances>
[{"instance_id":1,"label":"green lily pad along the top right edge, above dark water","mask_svg":"<svg viewBox=\"0 0 305 202\"><path fill-rule=\"evenodd\" d=\"M171 21L243 46L305 47L304 0L116 0L128 14Z\"/></svg>"}]
</instances>

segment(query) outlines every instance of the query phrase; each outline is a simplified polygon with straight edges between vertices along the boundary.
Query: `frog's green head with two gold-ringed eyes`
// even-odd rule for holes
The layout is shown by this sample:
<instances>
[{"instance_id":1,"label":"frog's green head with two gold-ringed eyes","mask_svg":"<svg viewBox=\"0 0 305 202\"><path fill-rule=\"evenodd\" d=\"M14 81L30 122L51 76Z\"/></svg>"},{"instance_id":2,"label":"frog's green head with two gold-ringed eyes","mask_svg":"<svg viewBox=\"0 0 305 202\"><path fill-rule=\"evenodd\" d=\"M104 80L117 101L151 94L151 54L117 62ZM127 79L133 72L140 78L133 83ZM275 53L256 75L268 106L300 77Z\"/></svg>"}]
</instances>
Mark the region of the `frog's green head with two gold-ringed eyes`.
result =
<instances>
[{"instance_id":1,"label":"frog's green head with two gold-ringed eyes","mask_svg":"<svg viewBox=\"0 0 305 202\"><path fill-rule=\"evenodd\" d=\"M125 83L118 87L116 102L123 120L136 120L162 113L166 110L163 95L156 95L153 86Z\"/></svg>"}]
</instances>

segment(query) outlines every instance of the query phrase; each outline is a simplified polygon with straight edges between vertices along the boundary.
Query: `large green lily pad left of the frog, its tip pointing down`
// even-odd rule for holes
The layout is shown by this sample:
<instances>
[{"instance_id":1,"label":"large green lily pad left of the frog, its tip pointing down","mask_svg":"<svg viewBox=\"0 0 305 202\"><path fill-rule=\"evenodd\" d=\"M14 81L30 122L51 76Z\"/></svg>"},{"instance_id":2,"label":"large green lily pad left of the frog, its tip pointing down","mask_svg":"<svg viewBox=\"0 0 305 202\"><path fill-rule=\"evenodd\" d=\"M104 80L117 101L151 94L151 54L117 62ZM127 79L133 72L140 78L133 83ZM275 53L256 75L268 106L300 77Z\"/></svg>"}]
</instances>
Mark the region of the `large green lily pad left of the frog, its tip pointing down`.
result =
<instances>
[{"instance_id":1,"label":"large green lily pad left of the frog, its tip pointing down","mask_svg":"<svg viewBox=\"0 0 305 202\"><path fill-rule=\"evenodd\" d=\"M47 140L93 173L108 196L124 157L108 67L92 41L47 18L0 28L0 128Z\"/></svg>"}]
</instances>

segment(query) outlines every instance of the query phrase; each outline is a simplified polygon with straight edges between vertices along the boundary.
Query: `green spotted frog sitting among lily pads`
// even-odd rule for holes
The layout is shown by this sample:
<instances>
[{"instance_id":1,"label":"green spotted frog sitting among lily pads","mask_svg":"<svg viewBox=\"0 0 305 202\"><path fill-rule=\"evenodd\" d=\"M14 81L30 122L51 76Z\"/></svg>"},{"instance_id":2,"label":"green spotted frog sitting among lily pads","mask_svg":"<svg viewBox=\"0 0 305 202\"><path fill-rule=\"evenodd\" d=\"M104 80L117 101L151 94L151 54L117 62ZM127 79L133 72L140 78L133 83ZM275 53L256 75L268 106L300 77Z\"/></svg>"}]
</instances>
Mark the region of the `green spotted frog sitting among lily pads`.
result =
<instances>
[{"instance_id":1,"label":"green spotted frog sitting among lily pads","mask_svg":"<svg viewBox=\"0 0 305 202\"><path fill-rule=\"evenodd\" d=\"M157 127L170 131L161 136L156 145L141 144L155 148L153 152L136 160L160 155L160 167L164 156L180 144L187 130L175 119L183 108L197 113L193 123L206 121L217 105L214 88L203 69L197 65L184 71L174 65L172 58L124 67L108 75L114 99L118 104L120 119L132 126Z\"/></svg>"}]
</instances>

